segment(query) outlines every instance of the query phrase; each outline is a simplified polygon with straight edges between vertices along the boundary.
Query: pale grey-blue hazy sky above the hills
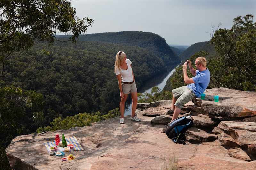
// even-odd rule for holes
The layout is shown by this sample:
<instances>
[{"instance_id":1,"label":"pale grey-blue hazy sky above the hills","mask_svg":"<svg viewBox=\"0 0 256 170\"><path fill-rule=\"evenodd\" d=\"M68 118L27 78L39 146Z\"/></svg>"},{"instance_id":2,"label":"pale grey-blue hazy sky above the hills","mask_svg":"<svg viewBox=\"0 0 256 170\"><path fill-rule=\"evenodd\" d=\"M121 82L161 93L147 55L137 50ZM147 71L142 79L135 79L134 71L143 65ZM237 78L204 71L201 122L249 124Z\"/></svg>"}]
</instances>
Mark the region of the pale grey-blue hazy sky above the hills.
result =
<instances>
[{"instance_id":1,"label":"pale grey-blue hazy sky above the hills","mask_svg":"<svg viewBox=\"0 0 256 170\"><path fill-rule=\"evenodd\" d=\"M256 14L256 0L72 0L76 16L93 19L87 34L151 32L167 44L210 41L212 26L230 29L233 19ZM256 17L254 21L256 22Z\"/></svg>"}]
</instances>

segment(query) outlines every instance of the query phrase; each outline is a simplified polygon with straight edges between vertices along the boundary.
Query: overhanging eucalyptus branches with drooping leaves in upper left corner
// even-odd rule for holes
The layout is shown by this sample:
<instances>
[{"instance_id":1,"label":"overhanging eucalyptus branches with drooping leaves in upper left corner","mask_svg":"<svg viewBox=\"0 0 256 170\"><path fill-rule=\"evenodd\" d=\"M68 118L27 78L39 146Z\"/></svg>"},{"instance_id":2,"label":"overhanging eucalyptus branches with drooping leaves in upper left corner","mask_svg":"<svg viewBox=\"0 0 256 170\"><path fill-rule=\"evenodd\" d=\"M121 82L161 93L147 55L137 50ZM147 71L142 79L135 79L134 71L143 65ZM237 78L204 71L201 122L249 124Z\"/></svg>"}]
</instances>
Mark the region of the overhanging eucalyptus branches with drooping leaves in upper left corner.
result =
<instances>
[{"instance_id":1,"label":"overhanging eucalyptus branches with drooping leaves in upper left corner","mask_svg":"<svg viewBox=\"0 0 256 170\"><path fill-rule=\"evenodd\" d=\"M28 50L38 41L51 46L56 31L69 34L69 41L76 42L93 22L88 17L77 18L67 0L3 0L0 10L0 77L4 77L4 66L13 52Z\"/></svg>"}]
</instances>

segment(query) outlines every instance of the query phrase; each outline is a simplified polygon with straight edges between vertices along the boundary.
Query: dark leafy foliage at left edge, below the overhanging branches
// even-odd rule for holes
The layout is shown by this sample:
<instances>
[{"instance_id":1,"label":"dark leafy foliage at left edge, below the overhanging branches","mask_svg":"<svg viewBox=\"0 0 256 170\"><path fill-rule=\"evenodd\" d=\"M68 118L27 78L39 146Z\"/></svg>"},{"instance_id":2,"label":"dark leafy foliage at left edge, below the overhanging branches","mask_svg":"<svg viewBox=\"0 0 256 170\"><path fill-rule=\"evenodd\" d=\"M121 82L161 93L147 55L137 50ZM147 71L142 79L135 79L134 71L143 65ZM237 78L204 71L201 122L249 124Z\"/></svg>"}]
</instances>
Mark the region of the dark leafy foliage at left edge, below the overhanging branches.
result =
<instances>
[{"instance_id":1,"label":"dark leafy foliage at left edge, below the overhanging branches","mask_svg":"<svg viewBox=\"0 0 256 170\"><path fill-rule=\"evenodd\" d=\"M6 145L15 136L30 133L23 124L28 123L29 118L32 122L39 117L42 119L44 105L42 94L35 91L22 93L20 88L13 86L0 88L0 143Z\"/></svg>"}]
</instances>

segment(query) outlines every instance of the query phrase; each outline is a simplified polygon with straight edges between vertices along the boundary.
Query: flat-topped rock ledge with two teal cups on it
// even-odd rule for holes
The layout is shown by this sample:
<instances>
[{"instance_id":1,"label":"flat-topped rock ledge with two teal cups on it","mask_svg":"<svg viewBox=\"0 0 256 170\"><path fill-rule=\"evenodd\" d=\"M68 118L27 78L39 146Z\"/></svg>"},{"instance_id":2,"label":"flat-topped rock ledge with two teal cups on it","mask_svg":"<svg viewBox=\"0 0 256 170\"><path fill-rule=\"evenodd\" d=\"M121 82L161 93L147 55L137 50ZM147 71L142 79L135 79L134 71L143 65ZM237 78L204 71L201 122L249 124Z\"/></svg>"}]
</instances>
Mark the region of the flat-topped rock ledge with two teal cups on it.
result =
<instances>
[{"instance_id":1,"label":"flat-topped rock ledge with two teal cups on it","mask_svg":"<svg viewBox=\"0 0 256 170\"><path fill-rule=\"evenodd\" d=\"M244 92L228 88L205 90L205 99L194 98L193 102L219 120L234 120L256 115L256 92ZM219 96L219 102L214 100Z\"/></svg>"}]
</instances>

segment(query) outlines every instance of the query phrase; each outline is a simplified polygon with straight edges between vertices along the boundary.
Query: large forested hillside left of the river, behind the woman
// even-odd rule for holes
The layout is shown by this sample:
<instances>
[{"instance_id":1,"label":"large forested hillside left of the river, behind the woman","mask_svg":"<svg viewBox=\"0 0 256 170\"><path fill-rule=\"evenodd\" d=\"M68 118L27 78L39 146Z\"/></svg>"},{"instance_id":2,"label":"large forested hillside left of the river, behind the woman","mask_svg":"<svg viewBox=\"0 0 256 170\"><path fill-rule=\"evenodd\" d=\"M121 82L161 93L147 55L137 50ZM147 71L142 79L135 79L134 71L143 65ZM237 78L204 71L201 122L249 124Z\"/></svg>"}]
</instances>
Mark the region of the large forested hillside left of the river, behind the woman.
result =
<instances>
[{"instance_id":1,"label":"large forested hillside left of the river, behind the woman","mask_svg":"<svg viewBox=\"0 0 256 170\"><path fill-rule=\"evenodd\" d=\"M13 85L43 95L44 121L24 124L31 132L50 125L59 116L97 111L106 114L119 107L119 88L114 73L119 50L125 51L132 61L138 88L148 78L166 70L162 59L140 47L95 41L56 42L48 48L50 55L44 55L44 45L37 44L28 52L12 55L5 77L0 81L1 87Z\"/></svg>"}]
</instances>

